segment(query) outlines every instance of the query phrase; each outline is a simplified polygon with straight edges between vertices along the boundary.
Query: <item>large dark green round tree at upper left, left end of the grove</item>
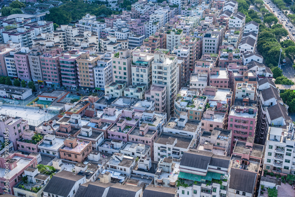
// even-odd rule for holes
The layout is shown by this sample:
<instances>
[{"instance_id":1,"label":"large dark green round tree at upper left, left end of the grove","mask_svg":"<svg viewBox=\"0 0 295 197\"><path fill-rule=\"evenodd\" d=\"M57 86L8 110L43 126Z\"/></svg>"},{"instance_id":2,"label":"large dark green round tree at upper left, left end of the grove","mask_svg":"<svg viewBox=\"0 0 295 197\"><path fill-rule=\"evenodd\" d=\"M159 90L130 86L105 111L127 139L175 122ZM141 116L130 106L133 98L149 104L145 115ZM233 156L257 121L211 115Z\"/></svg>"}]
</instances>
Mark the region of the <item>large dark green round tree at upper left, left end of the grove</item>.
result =
<instances>
[{"instance_id":1,"label":"large dark green round tree at upper left, left end of the grove","mask_svg":"<svg viewBox=\"0 0 295 197\"><path fill-rule=\"evenodd\" d=\"M69 24L72 20L71 13L62 10L59 7L50 9L50 13L46 14L46 20L53 21L55 24Z\"/></svg>"}]
</instances>

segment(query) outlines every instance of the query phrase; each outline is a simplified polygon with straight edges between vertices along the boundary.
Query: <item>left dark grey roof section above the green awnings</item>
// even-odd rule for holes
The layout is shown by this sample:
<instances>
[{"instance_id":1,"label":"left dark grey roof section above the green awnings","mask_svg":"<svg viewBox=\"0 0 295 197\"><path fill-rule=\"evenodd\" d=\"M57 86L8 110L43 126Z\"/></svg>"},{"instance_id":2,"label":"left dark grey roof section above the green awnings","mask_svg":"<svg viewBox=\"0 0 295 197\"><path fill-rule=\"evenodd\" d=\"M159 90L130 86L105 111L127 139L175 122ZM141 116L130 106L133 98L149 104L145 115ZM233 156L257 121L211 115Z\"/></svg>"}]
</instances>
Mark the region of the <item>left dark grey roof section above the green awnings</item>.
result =
<instances>
[{"instance_id":1,"label":"left dark grey roof section above the green awnings","mask_svg":"<svg viewBox=\"0 0 295 197\"><path fill-rule=\"evenodd\" d=\"M183 153L180 165L207 170L212 155L212 152L190 149Z\"/></svg>"}]
</instances>

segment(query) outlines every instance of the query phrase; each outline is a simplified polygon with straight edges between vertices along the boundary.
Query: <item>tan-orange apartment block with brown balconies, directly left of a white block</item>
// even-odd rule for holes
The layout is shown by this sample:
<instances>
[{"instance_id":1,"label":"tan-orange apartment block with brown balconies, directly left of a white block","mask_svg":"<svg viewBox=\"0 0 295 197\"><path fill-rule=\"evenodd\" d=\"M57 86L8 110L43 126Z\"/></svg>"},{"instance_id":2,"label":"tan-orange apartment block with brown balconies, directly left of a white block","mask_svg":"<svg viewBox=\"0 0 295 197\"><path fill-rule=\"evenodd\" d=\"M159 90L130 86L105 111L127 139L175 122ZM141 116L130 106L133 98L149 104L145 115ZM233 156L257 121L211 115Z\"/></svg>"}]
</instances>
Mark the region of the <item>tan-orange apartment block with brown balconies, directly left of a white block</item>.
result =
<instances>
[{"instance_id":1,"label":"tan-orange apartment block with brown balconies, directly left of a white block","mask_svg":"<svg viewBox=\"0 0 295 197\"><path fill-rule=\"evenodd\" d=\"M97 65L98 55L89 55L83 53L80 59L77 59L78 64L78 81L82 90L94 89L93 68Z\"/></svg>"}]
</instances>

